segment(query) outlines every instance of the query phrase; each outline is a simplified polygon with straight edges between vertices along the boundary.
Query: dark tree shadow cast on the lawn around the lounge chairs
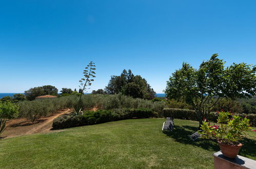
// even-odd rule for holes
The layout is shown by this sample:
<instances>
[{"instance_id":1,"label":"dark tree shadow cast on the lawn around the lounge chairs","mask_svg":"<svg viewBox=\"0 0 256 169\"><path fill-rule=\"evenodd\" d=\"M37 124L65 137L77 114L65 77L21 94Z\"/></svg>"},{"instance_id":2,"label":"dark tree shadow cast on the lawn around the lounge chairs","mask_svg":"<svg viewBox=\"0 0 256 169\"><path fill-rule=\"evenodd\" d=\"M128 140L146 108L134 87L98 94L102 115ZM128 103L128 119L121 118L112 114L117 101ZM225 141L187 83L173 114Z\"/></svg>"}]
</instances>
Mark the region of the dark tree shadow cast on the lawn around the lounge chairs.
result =
<instances>
[{"instance_id":1,"label":"dark tree shadow cast on the lawn around the lounge chairs","mask_svg":"<svg viewBox=\"0 0 256 169\"><path fill-rule=\"evenodd\" d=\"M163 131L167 136L175 139L175 141L183 144L191 144L194 146L201 147L202 149L218 152L220 151L219 145L216 140L202 139L199 138L195 141L192 141L189 136L194 132L198 131L198 128L189 126L189 125L175 125L172 132ZM241 156L255 156L256 152L256 140L244 138L241 140L243 147L240 150L239 155Z\"/></svg>"}]
</instances>

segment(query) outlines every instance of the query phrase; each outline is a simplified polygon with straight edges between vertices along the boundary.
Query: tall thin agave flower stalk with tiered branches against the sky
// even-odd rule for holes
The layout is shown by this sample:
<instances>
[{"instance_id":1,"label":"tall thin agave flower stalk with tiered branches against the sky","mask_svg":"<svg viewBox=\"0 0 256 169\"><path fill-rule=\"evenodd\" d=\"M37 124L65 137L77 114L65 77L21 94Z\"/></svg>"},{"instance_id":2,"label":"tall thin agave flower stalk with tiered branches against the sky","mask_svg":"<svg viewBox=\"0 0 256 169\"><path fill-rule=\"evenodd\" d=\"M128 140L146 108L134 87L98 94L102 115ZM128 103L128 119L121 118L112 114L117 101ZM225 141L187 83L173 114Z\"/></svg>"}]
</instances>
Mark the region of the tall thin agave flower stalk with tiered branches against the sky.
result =
<instances>
[{"instance_id":1,"label":"tall thin agave flower stalk with tiered branches against the sky","mask_svg":"<svg viewBox=\"0 0 256 169\"><path fill-rule=\"evenodd\" d=\"M75 114L78 114L80 113L81 111L81 98L82 98L82 95L84 93L85 90L87 90L88 88L86 88L87 86L91 86L91 81L94 81L94 77L95 76L95 72L94 70L96 70L95 68L95 65L94 65L94 62L90 62L87 67L85 68L83 74L84 74L84 77L85 78L81 78L81 80L79 80L80 82L80 89L79 89L79 93L81 92L80 94L80 97L79 97L79 101L78 101L78 104L77 104L77 108L75 110Z\"/></svg>"}]
</instances>

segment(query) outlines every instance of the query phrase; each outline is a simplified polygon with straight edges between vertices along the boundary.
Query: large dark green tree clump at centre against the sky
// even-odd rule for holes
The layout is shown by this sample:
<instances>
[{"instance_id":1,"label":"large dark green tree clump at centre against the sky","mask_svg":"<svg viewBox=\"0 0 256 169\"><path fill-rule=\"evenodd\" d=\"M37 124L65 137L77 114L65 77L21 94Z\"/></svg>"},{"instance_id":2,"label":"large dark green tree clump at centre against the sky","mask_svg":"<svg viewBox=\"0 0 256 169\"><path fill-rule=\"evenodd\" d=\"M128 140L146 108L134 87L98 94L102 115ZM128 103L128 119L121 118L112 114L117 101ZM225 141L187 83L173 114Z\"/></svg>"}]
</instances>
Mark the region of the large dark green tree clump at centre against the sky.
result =
<instances>
[{"instance_id":1,"label":"large dark green tree clump at centre against the sky","mask_svg":"<svg viewBox=\"0 0 256 169\"><path fill-rule=\"evenodd\" d=\"M154 90L147 80L140 75L134 76L131 70L124 70L120 76L111 76L108 86L105 88L107 94L120 94L132 96L133 98L153 99Z\"/></svg>"}]
</instances>

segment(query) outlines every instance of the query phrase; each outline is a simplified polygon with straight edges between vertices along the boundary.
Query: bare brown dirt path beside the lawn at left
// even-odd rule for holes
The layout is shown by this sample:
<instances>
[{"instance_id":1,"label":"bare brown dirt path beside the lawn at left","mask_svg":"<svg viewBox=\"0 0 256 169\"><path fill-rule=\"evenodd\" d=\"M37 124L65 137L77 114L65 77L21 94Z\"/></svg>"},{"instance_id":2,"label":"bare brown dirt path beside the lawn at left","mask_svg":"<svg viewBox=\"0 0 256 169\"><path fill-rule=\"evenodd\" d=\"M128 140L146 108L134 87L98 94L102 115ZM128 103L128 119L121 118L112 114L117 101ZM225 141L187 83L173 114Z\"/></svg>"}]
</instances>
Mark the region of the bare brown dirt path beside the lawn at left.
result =
<instances>
[{"instance_id":1,"label":"bare brown dirt path beside the lawn at left","mask_svg":"<svg viewBox=\"0 0 256 169\"><path fill-rule=\"evenodd\" d=\"M68 113L69 111L69 109L57 111L49 116L36 120L34 123L25 118L10 120L7 122L7 128L1 136L10 138L21 135L51 132L53 120L58 116Z\"/></svg>"}]
</instances>

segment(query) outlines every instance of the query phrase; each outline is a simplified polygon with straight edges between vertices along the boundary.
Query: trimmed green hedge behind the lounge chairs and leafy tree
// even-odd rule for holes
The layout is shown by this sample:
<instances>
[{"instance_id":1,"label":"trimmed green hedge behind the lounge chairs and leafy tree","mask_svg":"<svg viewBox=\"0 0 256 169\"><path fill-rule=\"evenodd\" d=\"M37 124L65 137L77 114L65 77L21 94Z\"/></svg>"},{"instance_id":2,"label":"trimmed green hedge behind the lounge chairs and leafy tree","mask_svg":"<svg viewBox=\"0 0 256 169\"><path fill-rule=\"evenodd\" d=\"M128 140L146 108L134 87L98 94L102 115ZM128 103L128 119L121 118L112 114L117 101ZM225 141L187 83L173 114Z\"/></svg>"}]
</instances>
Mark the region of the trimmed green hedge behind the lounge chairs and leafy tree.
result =
<instances>
[{"instance_id":1,"label":"trimmed green hedge behind the lounge chairs and leafy tree","mask_svg":"<svg viewBox=\"0 0 256 169\"><path fill-rule=\"evenodd\" d=\"M198 116L194 110L187 110L187 109L164 109L163 110L164 117L172 117L176 119L184 119L184 120L198 120ZM255 114L235 114L241 117L247 117L250 120L251 126L256 126L256 115ZM207 119L209 121L217 122L218 113L211 112L209 113Z\"/></svg>"}]
</instances>

